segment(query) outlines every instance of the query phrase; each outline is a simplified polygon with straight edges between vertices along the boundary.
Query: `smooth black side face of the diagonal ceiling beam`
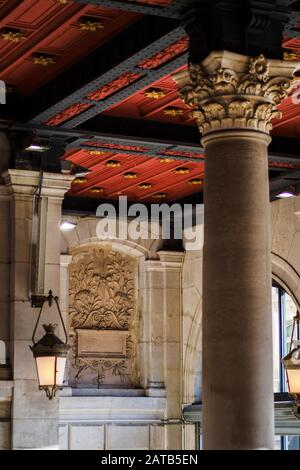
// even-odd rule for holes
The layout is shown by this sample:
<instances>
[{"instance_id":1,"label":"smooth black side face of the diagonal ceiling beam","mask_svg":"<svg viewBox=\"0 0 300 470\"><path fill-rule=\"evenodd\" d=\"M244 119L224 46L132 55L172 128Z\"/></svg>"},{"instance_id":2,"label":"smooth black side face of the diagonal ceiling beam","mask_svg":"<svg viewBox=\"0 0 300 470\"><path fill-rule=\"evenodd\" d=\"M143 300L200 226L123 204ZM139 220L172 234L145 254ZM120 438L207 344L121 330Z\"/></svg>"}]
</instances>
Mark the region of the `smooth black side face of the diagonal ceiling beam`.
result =
<instances>
[{"instance_id":1,"label":"smooth black side face of the diagonal ceiling beam","mask_svg":"<svg viewBox=\"0 0 300 470\"><path fill-rule=\"evenodd\" d=\"M178 21L169 18L140 17L39 90L19 99L12 110L15 120L28 122L139 51L156 43L164 35L178 28L178 24Z\"/></svg>"}]
</instances>

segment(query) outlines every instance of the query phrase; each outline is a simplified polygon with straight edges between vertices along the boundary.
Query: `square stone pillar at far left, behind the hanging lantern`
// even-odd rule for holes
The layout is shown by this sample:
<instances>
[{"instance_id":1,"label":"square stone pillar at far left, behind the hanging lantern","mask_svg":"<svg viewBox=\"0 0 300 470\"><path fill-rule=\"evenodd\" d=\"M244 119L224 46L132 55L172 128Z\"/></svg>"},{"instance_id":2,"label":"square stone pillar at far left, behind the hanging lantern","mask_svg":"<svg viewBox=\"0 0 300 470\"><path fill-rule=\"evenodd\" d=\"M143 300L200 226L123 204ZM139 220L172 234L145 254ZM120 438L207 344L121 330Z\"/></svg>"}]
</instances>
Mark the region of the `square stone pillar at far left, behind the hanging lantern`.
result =
<instances>
[{"instance_id":1,"label":"square stone pillar at far left, behind the hanging lantern","mask_svg":"<svg viewBox=\"0 0 300 470\"><path fill-rule=\"evenodd\" d=\"M8 170L4 174L10 194L10 338L13 375L12 448L58 448L58 399L48 400L38 389L31 337L39 310L31 307L32 247L37 242L32 230L34 194L41 183L43 227L40 231L40 286L59 293L61 203L72 177L62 174ZM42 235L41 235L42 234ZM44 315L44 313L43 313ZM59 323L55 308L46 308L44 322ZM37 331L40 338L42 330Z\"/></svg>"}]
</instances>

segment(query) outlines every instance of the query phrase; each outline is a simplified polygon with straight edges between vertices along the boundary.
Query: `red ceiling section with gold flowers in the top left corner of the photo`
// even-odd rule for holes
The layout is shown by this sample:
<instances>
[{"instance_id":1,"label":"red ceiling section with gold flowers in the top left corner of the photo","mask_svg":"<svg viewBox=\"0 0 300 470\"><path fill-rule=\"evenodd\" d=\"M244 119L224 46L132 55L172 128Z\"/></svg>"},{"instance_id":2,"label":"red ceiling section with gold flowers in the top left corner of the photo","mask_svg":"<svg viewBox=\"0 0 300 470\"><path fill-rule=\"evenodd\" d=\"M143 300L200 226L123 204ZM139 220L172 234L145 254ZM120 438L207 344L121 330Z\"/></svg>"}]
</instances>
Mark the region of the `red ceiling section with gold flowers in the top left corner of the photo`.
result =
<instances>
[{"instance_id":1,"label":"red ceiling section with gold flowers in the top left corner of the photo","mask_svg":"<svg viewBox=\"0 0 300 470\"><path fill-rule=\"evenodd\" d=\"M139 16L72 1L2 2L1 79L15 86L18 93L29 94Z\"/></svg>"}]
</instances>

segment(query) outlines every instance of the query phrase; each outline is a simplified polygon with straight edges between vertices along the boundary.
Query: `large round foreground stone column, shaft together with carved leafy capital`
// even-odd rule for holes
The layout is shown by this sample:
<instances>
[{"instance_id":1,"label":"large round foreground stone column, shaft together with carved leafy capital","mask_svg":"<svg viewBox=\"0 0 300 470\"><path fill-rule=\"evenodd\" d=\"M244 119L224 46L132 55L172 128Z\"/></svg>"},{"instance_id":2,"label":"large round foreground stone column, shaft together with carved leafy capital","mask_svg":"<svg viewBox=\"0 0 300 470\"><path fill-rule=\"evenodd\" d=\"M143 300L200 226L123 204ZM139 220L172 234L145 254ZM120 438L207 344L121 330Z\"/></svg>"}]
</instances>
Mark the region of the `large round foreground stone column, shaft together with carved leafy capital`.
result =
<instances>
[{"instance_id":1,"label":"large round foreground stone column, shaft together with carved leafy capital","mask_svg":"<svg viewBox=\"0 0 300 470\"><path fill-rule=\"evenodd\" d=\"M295 64L211 53L174 78L206 149L205 449L272 449L268 153Z\"/></svg>"}]
</instances>

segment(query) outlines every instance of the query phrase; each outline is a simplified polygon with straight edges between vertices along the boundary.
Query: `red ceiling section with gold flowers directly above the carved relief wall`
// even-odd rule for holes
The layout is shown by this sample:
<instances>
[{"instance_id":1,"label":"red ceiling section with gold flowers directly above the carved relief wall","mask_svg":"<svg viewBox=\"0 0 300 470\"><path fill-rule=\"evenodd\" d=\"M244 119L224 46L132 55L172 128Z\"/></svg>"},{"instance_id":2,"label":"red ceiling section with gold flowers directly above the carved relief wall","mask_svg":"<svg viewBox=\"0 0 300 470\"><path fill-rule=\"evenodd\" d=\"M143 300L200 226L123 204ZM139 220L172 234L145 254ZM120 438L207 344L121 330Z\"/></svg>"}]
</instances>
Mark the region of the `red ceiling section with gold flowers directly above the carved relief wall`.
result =
<instances>
[{"instance_id":1,"label":"red ceiling section with gold flowers directly above the carved relief wall","mask_svg":"<svg viewBox=\"0 0 300 470\"><path fill-rule=\"evenodd\" d=\"M168 152L153 158L109 149L71 150L65 158L91 170L73 182L69 192L73 196L117 199L124 195L130 201L170 202L201 190L204 178L201 154L199 162L174 160Z\"/></svg>"}]
</instances>

